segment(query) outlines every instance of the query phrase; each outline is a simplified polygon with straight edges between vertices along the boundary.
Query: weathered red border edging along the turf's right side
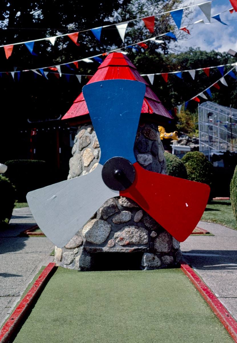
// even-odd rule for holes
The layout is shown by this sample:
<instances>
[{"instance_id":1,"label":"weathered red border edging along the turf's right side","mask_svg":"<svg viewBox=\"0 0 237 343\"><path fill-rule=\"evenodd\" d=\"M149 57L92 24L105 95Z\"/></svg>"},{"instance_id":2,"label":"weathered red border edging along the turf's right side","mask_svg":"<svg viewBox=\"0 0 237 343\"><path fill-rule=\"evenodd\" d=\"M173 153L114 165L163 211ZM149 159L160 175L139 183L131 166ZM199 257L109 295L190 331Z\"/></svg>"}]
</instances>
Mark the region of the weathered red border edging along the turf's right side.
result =
<instances>
[{"instance_id":1,"label":"weathered red border edging along the turf's right side","mask_svg":"<svg viewBox=\"0 0 237 343\"><path fill-rule=\"evenodd\" d=\"M233 338L234 342L237 343L237 322L232 315L188 264L181 262L181 270L188 276L189 280L194 284L205 301L207 301L208 305Z\"/></svg>"}]
</instances>

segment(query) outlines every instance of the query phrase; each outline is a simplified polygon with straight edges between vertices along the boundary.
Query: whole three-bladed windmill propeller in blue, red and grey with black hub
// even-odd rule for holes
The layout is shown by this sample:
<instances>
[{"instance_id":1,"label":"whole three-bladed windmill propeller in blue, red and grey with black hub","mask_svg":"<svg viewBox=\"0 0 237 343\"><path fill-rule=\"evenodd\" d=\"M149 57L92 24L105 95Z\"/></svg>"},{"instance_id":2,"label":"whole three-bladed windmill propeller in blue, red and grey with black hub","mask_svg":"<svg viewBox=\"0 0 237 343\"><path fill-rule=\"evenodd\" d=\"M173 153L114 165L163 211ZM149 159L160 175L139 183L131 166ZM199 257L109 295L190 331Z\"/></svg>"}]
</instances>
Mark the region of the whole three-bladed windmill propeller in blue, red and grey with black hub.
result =
<instances>
[{"instance_id":1,"label":"whole three-bladed windmill propeller in blue, red and grey with black hub","mask_svg":"<svg viewBox=\"0 0 237 343\"><path fill-rule=\"evenodd\" d=\"M98 166L84 176L27 194L36 222L56 246L65 246L106 200L119 195L133 199L179 241L200 220L208 185L154 173L136 162L133 147L145 90L145 84L131 80L84 86L100 143Z\"/></svg>"}]
</instances>

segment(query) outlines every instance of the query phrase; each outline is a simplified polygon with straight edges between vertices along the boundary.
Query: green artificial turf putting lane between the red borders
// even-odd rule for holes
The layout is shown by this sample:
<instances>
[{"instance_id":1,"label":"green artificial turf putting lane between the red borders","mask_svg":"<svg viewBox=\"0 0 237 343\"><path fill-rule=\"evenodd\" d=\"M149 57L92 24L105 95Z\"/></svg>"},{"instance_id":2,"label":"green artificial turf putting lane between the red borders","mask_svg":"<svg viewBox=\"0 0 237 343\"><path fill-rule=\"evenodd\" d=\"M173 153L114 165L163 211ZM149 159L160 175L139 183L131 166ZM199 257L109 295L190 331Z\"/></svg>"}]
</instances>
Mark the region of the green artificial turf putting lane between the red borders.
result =
<instances>
[{"instance_id":1,"label":"green artificial turf putting lane between the red borders","mask_svg":"<svg viewBox=\"0 0 237 343\"><path fill-rule=\"evenodd\" d=\"M232 342L180 269L58 268L14 343Z\"/></svg>"}]
</instances>

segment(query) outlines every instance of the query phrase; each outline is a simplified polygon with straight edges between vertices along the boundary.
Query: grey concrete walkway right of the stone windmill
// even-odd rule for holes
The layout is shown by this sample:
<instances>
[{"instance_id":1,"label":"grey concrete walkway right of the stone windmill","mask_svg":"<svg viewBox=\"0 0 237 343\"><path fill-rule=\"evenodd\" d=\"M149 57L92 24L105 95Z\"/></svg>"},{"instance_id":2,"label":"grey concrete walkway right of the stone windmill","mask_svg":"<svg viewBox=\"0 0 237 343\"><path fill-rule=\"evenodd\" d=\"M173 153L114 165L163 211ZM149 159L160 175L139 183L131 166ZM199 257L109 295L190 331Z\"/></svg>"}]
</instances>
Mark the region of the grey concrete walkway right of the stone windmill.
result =
<instances>
[{"instance_id":1,"label":"grey concrete walkway right of the stone windmill","mask_svg":"<svg viewBox=\"0 0 237 343\"><path fill-rule=\"evenodd\" d=\"M215 236L189 236L180 244L183 259L237 320L237 230L206 222L198 226Z\"/></svg>"}]
</instances>

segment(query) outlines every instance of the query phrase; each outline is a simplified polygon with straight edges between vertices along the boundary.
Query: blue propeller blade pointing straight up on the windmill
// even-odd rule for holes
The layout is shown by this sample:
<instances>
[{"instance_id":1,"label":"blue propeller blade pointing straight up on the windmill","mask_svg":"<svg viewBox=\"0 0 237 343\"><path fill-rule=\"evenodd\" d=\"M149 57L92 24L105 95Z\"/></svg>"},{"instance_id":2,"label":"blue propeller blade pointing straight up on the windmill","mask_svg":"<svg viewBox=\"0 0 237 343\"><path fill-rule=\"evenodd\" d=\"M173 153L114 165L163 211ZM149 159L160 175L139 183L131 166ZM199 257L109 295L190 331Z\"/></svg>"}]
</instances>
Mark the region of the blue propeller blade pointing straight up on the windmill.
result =
<instances>
[{"instance_id":1,"label":"blue propeller blade pointing straight up on the windmill","mask_svg":"<svg viewBox=\"0 0 237 343\"><path fill-rule=\"evenodd\" d=\"M132 80L105 80L83 87L100 144L101 165L114 156L136 162L133 146L145 92L144 83Z\"/></svg>"}]
</instances>

